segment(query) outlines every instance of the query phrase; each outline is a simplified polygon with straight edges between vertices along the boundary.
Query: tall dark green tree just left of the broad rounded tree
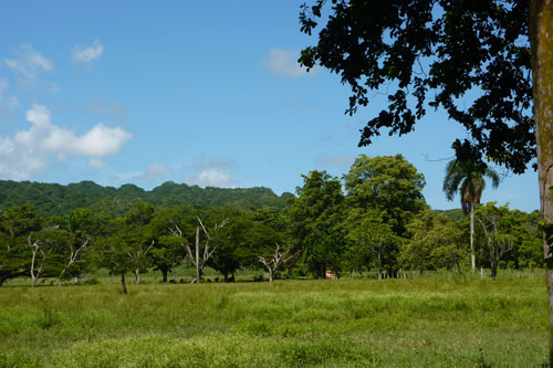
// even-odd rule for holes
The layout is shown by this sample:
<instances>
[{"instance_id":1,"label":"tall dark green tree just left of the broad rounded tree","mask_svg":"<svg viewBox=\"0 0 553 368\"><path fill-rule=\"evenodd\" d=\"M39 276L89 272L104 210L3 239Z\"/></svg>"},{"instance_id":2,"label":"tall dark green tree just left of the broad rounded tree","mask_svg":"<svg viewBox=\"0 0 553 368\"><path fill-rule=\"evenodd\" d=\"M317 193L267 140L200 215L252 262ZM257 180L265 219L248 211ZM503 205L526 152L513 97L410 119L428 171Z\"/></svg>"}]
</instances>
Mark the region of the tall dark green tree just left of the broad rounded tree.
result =
<instances>
[{"instance_id":1,"label":"tall dark green tree just left of the broad rounded tree","mask_svg":"<svg viewBox=\"0 0 553 368\"><path fill-rule=\"evenodd\" d=\"M302 252L300 261L315 277L326 277L328 269L340 276L345 249L340 231L345 214L342 185L326 171L313 170L302 177L304 185L296 188L298 198L286 209L294 251Z\"/></svg>"}]
</instances>

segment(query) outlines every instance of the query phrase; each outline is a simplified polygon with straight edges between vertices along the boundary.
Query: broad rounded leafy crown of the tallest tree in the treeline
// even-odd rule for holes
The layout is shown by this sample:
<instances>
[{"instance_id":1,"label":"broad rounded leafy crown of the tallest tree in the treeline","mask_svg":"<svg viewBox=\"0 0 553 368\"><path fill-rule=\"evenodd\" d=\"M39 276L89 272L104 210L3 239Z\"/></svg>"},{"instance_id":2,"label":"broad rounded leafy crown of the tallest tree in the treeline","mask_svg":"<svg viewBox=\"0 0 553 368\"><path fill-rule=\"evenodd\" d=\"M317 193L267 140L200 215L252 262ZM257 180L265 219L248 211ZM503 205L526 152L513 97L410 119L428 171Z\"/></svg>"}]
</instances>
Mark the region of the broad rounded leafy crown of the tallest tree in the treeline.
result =
<instances>
[{"instance_id":1,"label":"broad rounded leafy crown of the tallest tree in the treeline","mask_svg":"<svg viewBox=\"0 0 553 368\"><path fill-rule=\"evenodd\" d=\"M425 176L401 155L359 155L344 175L348 204L376 209L394 231L403 235L410 218L426 208Z\"/></svg>"}]
</instances>

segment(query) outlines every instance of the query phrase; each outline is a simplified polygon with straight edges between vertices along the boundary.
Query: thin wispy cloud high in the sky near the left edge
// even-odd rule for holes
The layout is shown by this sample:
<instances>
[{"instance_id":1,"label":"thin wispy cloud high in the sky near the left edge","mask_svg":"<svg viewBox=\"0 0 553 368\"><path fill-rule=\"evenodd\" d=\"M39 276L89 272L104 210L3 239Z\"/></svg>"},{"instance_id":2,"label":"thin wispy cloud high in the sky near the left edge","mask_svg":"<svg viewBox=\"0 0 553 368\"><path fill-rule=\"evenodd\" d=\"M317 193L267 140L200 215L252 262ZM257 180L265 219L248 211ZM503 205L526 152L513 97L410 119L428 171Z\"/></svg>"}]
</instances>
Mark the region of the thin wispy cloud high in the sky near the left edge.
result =
<instances>
[{"instance_id":1,"label":"thin wispy cloud high in the sky near the left edge","mask_svg":"<svg viewBox=\"0 0 553 368\"><path fill-rule=\"evenodd\" d=\"M4 63L24 84L32 84L38 71L50 72L54 69L53 63L35 51L31 44L22 44L15 53L18 57L4 59Z\"/></svg>"}]
</instances>

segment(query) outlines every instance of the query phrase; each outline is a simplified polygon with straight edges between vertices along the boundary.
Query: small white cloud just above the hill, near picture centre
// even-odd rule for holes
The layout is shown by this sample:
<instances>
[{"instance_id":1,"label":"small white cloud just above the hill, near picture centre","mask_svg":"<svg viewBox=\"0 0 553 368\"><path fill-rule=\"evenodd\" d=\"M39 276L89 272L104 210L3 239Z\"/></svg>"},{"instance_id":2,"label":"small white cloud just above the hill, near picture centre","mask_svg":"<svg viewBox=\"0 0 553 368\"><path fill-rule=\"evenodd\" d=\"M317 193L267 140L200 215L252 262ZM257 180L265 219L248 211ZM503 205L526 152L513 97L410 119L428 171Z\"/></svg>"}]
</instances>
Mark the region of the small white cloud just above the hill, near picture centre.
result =
<instances>
[{"instance_id":1,"label":"small white cloud just above the hill, near picture centre","mask_svg":"<svg viewBox=\"0 0 553 368\"><path fill-rule=\"evenodd\" d=\"M211 158L208 161L201 156L195 160L192 174L185 178L185 182L200 187L233 188L236 181L229 170L236 167L237 162L232 158Z\"/></svg>"}]
</instances>

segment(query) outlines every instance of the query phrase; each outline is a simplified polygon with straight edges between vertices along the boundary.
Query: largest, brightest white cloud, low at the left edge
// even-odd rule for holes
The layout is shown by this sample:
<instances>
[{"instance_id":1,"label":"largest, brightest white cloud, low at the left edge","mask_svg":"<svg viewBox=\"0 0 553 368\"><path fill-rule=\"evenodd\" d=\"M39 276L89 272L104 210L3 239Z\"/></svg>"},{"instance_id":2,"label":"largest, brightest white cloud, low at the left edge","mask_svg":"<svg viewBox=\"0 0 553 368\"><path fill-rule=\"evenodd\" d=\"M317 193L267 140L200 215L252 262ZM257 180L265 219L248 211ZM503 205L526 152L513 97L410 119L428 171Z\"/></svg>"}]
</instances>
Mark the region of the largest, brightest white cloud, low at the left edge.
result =
<instances>
[{"instance_id":1,"label":"largest, brightest white cloud, low at the left edge","mask_svg":"<svg viewBox=\"0 0 553 368\"><path fill-rule=\"evenodd\" d=\"M91 167L101 167L101 157L116 155L133 138L119 127L100 123L83 135L52 124L50 111L34 104L27 112L32 123L28 130L17 132L13 138L0 137L0 178L27 179L49 168L52 158L67 160L73 156L90 158Z\"/></svg>"}]
</instances>

